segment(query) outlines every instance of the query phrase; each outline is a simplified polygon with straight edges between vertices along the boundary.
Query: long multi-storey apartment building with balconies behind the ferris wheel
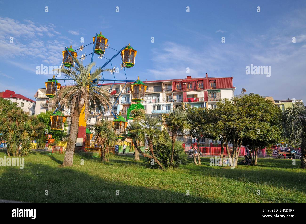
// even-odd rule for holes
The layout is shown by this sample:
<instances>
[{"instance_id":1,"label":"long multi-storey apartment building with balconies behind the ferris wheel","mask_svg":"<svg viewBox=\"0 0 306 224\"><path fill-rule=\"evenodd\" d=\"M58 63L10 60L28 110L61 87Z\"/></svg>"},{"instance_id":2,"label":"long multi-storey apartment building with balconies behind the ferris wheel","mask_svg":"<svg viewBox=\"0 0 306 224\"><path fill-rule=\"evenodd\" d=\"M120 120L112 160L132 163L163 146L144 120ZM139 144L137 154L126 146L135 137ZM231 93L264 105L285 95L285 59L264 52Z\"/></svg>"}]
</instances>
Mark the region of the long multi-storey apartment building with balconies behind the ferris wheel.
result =
<instances>
[{"instance_id":1,"label":"long multi-storey apartment building with balconies behind the ferris wheel","mask_svg":"<svg viewBox=\"0 0 306 224\"><path fill-rule=\"evenodd\" d=\"M191 107L205 107L214 109L216 103L220 99L231 99L234 96L235 87L233 87L233 77L226 78L192 78L187 76L183 79L165 79L144 81L147 85L145 98L141 102L144 105L146 114L157 116L162 121L162 115L169 113L177 107L182 107L183 104L189 104ZM92 130L93 125L100 120L113 120L113 114L121 114L127 119L127 110L132 102L130 86L132 83L103 83L99 86L110 93L110 111L99 111L95 108L87 119L87 127ZM46 96L46 89L38 89L34 95L36 98L35 114L45 112L52 109L52 99ZM67 123L69 126L69 109L64 112L67 116ZM68 129L69 131L69 129ZM190 142L188 136L183 136L183 130L177 132L177 140ZM193 139L193 142L196 140ZM205 139L200 140L201 143L208 144Z\"/></svg>"}]
</instances>

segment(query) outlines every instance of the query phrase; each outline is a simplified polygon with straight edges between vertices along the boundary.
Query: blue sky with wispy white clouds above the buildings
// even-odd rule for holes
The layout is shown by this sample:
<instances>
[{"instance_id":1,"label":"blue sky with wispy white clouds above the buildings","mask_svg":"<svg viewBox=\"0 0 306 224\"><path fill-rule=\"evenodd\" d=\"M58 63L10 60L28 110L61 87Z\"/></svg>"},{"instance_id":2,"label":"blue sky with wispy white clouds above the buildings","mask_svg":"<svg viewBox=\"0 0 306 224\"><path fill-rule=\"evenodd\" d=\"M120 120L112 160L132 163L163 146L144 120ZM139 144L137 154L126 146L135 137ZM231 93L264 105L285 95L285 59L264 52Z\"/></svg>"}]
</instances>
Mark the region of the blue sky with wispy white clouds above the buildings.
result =
<instances>
[{"instance_id":1,"label":"blue sky with wispy white clouds above the buildings","mask_svg":"<svg viewBox=\"0 0 306 224\"><path fill-rule=\"evenodd\" d=\"M306 101L305 1L95 2L100 3L0 0L0 91L33 99L52 77L37 75L36 66L59 66L65 47L77 49L102 31L110 47L120 50L130 43L138 50L135 66L126 69L128 79L233 76L235 94L244 88L274 99ZM91 51L86 47L79 56ZM114 53L107 49L105 57ZM97 65L103 60L95 54ZM83 62L89 61L90 56ZM246 75L251 64L271 66L271 77ZM120 66L120 57L114 66ZM116 74L124 77L122 71Z\"/></svg>"}]
</instances>

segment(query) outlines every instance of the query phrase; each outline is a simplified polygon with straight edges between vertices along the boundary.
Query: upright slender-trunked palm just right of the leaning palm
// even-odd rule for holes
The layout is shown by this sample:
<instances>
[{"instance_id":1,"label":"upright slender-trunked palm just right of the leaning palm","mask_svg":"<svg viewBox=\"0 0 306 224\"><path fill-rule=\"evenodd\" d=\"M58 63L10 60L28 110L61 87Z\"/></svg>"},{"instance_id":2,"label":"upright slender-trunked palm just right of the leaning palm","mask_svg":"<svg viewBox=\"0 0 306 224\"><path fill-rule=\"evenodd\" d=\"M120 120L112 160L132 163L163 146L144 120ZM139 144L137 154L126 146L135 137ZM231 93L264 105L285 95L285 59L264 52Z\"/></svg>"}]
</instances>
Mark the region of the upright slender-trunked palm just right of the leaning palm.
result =
<instances>
[{"instance_id":1,"label":"upright slender-trunked palm just right of the leaning palm","mask_svg":"<svg viewBox=\"0 0 306 224\"><path fill-rule=\"evenodd\" d=\"M182 110L181 108L175 108L174 110L170 111L169 114L166 114L165 122L172 136L172 152L171 152L171 160L170 160L170 164L172 164L176 133L179 129L181 130L189 129L190 125L189 125L189 122L187 121L187 112Z\"/></svg>"}]
</instances>

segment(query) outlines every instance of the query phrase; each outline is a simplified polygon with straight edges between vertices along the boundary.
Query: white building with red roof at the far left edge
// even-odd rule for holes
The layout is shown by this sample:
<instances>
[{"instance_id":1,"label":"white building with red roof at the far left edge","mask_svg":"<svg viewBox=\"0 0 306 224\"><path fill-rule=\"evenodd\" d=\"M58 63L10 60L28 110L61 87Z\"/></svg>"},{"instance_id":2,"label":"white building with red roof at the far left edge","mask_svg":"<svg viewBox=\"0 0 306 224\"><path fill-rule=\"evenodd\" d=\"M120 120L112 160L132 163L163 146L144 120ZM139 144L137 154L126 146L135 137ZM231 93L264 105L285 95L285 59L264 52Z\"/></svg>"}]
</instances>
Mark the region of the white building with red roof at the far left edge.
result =
<instances>
[{"instance_id":1,"label":"white building with red roof at the far left edge","mask_svg":"<svg viewBox=\"0 0 306 224\"><path fill-rule=\"evenodd\" d=\"M28 113L30 116L35 113L35 101L31 100L28 97L25 97L21 94L16 94L14 91L5 90L0 93L0 97L5 98L18 104L18 107L21 107L22 110Z\"/></svg>"}]
</instances>

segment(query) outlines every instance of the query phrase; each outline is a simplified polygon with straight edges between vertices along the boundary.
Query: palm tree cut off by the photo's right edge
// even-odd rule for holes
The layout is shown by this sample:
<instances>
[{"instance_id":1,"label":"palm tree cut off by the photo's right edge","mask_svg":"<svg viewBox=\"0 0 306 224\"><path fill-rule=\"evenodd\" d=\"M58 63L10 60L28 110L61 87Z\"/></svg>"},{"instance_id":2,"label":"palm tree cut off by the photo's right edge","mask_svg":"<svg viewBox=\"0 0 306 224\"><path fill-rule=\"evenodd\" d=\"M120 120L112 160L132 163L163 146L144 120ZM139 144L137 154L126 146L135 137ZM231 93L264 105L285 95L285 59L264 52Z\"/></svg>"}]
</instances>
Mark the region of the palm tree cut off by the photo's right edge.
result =
<instances>
[{"instance_id":1,"label":"palm tree cut off by the photo's right edge","mask_svg":"<svg viewBox=\"0 0 306 224\"><path fill-rule=\"evenodd\" d=\"M301 168L306 169L306 107L294 104L285 109L284 126L289 141L301 148Z\"/></svg>"}]
</instances>

